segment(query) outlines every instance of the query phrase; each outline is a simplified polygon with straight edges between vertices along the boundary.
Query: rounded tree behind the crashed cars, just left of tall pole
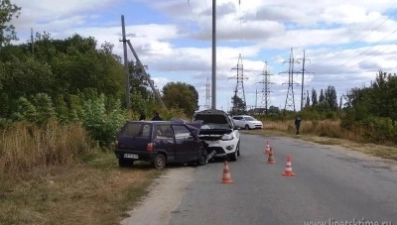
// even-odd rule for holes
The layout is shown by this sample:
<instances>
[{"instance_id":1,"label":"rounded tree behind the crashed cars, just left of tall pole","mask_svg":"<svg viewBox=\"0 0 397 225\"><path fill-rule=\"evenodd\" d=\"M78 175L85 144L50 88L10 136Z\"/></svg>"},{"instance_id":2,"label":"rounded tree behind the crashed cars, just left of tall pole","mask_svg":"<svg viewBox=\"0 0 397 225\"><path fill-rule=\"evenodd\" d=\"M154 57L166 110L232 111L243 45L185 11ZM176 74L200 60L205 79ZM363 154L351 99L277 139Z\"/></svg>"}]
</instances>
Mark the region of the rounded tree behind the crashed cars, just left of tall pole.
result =
<instances>
[{"instance_id":1,"label":"rounded tree behind the crashed cars, just left of tall pole","mask_svg":"<svg viewBox=\"0 0 397 225\"><path fill-rule=\"evenodd\" d=\"M163 87L163 100L168 108L182 109L192 116L198 106L197 91L183 82L170 82Z\"/></svg>"}]
</instances>

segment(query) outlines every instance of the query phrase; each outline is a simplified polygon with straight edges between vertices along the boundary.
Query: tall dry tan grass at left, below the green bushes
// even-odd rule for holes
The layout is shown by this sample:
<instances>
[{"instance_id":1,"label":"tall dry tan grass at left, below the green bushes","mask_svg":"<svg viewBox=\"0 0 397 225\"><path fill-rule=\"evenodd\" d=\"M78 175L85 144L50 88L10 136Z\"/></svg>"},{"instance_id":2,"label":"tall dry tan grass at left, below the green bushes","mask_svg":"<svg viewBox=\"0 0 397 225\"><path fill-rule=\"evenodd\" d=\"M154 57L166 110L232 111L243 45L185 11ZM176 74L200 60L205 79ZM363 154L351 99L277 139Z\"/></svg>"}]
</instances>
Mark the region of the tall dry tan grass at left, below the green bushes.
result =
<instances>
[{"instance_id":1,"label":"tall dry tan grass at left, below the green bushes","mask_svg":"<svg viewBox=\"0 0 397 225\"><path fill-rule=\"evenodd\" d=\"M52 121L44 127L16 123L0 131L0 177L18 177L35 167L73 163L94 147L78 123L60 125Z\"/></svg>"}]
</instances>

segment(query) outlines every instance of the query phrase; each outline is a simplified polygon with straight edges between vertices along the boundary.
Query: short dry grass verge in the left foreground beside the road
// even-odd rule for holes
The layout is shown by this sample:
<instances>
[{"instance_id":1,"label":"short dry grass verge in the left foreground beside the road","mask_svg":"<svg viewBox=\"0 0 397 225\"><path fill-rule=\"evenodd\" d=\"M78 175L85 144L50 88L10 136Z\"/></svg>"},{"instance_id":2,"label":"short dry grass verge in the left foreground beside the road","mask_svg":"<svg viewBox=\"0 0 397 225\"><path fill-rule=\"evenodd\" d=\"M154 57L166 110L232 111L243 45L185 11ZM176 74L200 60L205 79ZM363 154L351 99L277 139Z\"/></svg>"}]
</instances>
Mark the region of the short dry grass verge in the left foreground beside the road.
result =
<instances>
[{"instance_id":1,"label":"short dry grass verge in the left foreground beside the road","mask_svg":"<svg viewBox=\"0 0 397 225\"><path fill-rule=\"evenodd\" d=\"M160 172L119 169L111 153L79 166L52 166L0 185L0 224L118 224ZM26 179L30 177L30 179Z\"/></svg>"}]
</instances>

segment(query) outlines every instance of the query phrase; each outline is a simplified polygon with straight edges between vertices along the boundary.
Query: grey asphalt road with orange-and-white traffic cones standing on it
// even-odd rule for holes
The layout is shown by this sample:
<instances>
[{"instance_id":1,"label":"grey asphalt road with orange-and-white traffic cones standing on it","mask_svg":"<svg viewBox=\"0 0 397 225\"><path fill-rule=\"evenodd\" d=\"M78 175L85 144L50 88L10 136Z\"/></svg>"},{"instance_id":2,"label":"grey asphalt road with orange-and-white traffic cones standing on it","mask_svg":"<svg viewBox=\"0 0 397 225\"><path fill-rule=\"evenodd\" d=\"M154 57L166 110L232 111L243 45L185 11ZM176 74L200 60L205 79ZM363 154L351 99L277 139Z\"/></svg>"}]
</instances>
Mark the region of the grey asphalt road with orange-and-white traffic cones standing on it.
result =
<instances>
[{"instance_id":1,"label":"grey asphalt road with orange-and-white traffic cones standing on it","mask_svg":"<svg viewBox=\"0 0 397 225\"><path fill-rule=\"evenodd\" d=\"M266 140L276 164L267 164ZM288 154L295 177L281 175ZM397 224L395 164L337 146L242 135L229 169L233 184L221 183L222 162L194 169L168 224Z\"/></svg>"}]
</instances>

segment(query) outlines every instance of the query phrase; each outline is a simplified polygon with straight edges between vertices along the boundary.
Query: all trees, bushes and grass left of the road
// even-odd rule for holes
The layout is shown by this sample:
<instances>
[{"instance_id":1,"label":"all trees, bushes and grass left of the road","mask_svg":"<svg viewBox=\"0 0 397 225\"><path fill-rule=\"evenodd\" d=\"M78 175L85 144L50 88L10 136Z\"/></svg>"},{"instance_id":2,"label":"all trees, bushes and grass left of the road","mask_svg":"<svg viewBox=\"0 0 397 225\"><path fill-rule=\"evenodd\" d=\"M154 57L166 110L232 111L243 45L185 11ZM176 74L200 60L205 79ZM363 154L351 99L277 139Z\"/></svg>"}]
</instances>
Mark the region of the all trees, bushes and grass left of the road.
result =
<instances>
[{"instance_id":1,"label":"all trees, bushes and grass left of the road","mask_svg":"<svg viewBox=\"0 0 397 225\"><path fill-rule=\"evenodd\" d=\"M153 110L164 119L190 117L197 91L165 85L164 110L131 60L127 109L123 61L113 45L47 32L12 44L20 8L6 0L0 12L0 224L118 223L161 174L145 163L118 167L118 129L141 114L150 119Z\"/></svg>"}]
</instances>

